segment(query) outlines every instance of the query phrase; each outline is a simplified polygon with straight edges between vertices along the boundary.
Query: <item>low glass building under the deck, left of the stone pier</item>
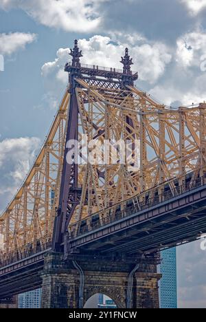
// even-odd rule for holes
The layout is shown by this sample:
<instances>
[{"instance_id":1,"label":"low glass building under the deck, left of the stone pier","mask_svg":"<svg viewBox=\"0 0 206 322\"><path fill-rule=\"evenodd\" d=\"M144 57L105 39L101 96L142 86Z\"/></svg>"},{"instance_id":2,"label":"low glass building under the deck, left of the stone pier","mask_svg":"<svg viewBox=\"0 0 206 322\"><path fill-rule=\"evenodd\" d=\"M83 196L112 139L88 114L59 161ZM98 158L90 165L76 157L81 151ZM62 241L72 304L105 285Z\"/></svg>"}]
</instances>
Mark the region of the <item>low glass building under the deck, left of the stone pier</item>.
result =
<instances>
[{"instance_id":1,"label":"low glass building under the deck, left of the stone pier","mask_svg":"<svg viewBox=\"0 0 206 322\"><path fill-rule=\"evenodd\" d=\"M41 289L33 290L18 297L19 308L41 308Z\"/></svg>"}]
</instances>

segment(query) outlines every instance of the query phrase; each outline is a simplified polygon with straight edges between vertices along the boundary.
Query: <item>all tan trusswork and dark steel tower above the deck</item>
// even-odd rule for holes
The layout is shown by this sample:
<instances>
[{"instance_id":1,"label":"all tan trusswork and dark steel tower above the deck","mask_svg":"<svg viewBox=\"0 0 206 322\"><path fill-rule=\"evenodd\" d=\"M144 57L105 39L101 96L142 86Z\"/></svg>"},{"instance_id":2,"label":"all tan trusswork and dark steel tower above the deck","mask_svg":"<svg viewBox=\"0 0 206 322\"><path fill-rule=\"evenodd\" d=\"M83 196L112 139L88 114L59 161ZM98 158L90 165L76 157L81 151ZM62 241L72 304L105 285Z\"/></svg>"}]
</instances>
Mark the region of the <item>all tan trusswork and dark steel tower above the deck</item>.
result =
<instances>
[{"instance_id":1,"label":"all tan trusswork and dark steel tower above the deck","mask_svg":"<svg viewBox=\"0 0 206 322\"><path fill-rule=\"evenodd\" d=\"M4 259L50 247L52 237L53 249L65 250L67 255L69 232L77 236L82 220L87 226L93 224L89 218L104 225L108 215L126 211L126 200L132 199L135 206L146 202L148 189L150 200L158 197L161 202L165 190L175 196L177 189L185 191L186 181L193 186L205 177L206 103L179 109L160 105L135 87L138 75L130 70L127 51L122 63L129 65L124 65L122 72L80 65L82 53L75 48L72 63L65 66L68 90L49 136L23 186L1 216ZM133 143L137 141L139 166L134 169L127 159L120 164L118 152L113 163L113 149L106 162L90 164L85 144L80 146L84 164L75 160L67 164L70 150L65 148L66 141L81 142L83 135L102 143L100 153L104 152L104 140L123 139L132 142L130 154L135 155ZM186 174L191 172L188 183ZM107 211L111 207L112 211Z\"/></svg>"}]
</instances>

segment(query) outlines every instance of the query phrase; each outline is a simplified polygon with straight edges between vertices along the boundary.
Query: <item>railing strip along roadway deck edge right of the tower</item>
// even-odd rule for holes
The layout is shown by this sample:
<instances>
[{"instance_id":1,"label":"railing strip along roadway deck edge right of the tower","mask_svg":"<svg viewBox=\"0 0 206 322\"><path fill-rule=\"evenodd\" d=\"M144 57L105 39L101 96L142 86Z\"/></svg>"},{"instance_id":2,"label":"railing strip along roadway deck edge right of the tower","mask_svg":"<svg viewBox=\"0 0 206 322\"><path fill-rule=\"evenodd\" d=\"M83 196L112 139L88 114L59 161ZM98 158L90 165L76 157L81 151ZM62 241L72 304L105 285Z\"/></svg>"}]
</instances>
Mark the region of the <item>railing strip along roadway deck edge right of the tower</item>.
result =
<instances>
[{"instance_id":1,"label":"railing strip along roadway deck edge right of the tower","mask_svg":"<svg viewBox=\"0 0 206 322\"><path fill-rule=\"evenodd\" d=\"M191 173L191 176L192 174L193 173ZM187 173L187 176L190 177L190 173ZM170 182L156 186L155 188L141 193L130 200L126 200L126 202L122 204L107 208L100 213L96 213L90 217L82 219L80 222L76 222L69 227L69 235L71 239L77 235L84 235L85 233L89 233L95 229L101 228L102 226L117 222L120 219L129 217L139 211L144 211L147 208L151 208L152 206L161 204L161 202L171 200L174 197L183 195L184 193L206 184L206 174L202 178L197 178L196 180L190 180L188 182L186 181L185 184L181 186L179 185L180 179L182 178L174 178L174 180L170 180ZM168 189L169 184L171 185L172 183L174 184L174 189ZM165 191L159 194L159 189L162 188L164 188ZM121 206L123 209L121 209Z\"/></svg>"}]
</instances>

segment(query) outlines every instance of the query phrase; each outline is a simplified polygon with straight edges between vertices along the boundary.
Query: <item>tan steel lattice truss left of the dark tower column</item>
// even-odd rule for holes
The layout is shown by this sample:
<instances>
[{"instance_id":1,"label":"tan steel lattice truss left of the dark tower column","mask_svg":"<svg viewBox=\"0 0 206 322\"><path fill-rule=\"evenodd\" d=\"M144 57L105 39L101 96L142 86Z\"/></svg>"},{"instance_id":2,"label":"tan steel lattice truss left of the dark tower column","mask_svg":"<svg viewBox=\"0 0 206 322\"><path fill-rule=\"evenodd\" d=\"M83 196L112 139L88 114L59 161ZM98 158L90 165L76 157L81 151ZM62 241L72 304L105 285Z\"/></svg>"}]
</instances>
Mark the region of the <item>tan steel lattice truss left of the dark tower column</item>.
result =
<instances>
[{"instance_id":1,"label":"tan steel lattice truss left of the dark tower column","mask_svg":"<svg viewBox=\"0 0 206 322\"><path fill-rule=\"evenodd\" d=\"M0 258L3 261L11 260L16 253L29 254L31 250L36 253L47 249L51 243L60 191L68 103L66 92L34 166L0 218L0 233L4 239Z\"/></svg>"}]
</instances>

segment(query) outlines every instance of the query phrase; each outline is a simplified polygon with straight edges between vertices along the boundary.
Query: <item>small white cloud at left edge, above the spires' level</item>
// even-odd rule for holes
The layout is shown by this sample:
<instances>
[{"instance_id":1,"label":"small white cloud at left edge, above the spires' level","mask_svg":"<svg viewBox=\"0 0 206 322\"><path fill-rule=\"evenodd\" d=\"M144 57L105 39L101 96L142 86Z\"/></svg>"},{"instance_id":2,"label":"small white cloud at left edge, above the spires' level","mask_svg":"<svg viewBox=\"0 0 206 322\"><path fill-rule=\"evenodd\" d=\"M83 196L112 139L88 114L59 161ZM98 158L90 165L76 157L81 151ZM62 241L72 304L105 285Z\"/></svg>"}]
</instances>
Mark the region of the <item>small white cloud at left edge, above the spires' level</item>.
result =
<instances>
[{"instance_id":1,"label":"small white cloud at left edge, above the spires' level","mask_svg":"<svg viewBox=\"0 0 206 322\"><path fill-rule=\"evenodd\" d=\"M25 45L36 40L36 34L25 34L14 32L10 34L0 34L0 53L13 54L16 50L25 48Z\"/></svg>"}]
</instances>

